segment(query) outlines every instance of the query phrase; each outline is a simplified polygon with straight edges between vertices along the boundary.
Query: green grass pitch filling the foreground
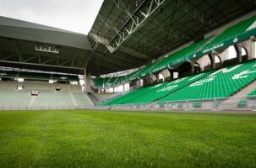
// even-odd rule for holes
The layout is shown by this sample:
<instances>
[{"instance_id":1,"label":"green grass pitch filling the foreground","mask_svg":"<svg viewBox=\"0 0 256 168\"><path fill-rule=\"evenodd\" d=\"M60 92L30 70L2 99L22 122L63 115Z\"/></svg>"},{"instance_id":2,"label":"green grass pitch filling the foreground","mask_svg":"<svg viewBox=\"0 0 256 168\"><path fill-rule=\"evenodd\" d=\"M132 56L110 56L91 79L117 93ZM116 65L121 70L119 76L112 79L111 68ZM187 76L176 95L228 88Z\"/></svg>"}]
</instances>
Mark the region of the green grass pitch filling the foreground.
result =
<instances>
[{"instance_id":1,"label":"green grass pitch filling the foreground","mask_svg":"<svg viewBox=\"0 0 256 168\"><path fill-rule=\"evenodd\" d=\"M0 167L256 167L256 115L0 112Z\"/></svg>"}]
</instances>

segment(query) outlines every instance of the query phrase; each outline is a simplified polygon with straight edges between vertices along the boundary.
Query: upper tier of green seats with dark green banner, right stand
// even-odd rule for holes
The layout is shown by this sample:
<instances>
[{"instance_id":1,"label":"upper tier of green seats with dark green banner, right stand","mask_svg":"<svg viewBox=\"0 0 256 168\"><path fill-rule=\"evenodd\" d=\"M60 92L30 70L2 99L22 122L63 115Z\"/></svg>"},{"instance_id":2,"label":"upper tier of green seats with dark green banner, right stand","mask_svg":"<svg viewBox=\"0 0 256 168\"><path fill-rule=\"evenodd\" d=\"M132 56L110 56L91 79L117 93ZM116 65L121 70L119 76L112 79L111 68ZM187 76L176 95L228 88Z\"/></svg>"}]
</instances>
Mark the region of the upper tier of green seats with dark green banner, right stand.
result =
<instances>
[{"instance_id":1,"label":"upper tier of green seats with dark green banner, right stand","mask_svg":"<svg viewBox=\"0 0 256 168\"><path fill-rule=\"evenodd\" d=\"M123 82L133 81L144 76L149 76L150 74L155 74L166 68L177 66L186 60L193 60L209 54L213 50L225 49L231 45L250 39L253 35L256 35L256 15L225 29L221 34L203 39L182 50L178 50L172 55L166 56L162 60L157 60L148 66L144 66L139 71L126 76L127 80L123 80ZM120 82L120 84L123 82Z\"/></svg>"}]
</instances>

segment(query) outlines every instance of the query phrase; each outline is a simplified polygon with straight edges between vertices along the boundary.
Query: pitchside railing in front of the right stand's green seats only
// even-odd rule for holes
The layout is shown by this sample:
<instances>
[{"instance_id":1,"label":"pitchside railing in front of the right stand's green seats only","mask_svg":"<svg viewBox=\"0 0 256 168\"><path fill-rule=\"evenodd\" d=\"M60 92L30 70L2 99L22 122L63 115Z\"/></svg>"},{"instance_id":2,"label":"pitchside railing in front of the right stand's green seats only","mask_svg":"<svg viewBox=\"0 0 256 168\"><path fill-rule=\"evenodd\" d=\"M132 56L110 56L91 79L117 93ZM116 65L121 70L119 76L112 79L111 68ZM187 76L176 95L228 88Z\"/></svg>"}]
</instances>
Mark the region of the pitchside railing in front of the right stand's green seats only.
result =
<instances>
[{"instance_id":1,"label":"pitchside railing in front of the right stand's green seats only","mask_svg":"<svg viewBox=\"0 0 256 168\"><path fill-rule=\"evenodd\" d=\"M127 110L256 110L256 97L225 97L172 102L130 103L112 105L111 109Z\"/></svg>"}]
</instances>

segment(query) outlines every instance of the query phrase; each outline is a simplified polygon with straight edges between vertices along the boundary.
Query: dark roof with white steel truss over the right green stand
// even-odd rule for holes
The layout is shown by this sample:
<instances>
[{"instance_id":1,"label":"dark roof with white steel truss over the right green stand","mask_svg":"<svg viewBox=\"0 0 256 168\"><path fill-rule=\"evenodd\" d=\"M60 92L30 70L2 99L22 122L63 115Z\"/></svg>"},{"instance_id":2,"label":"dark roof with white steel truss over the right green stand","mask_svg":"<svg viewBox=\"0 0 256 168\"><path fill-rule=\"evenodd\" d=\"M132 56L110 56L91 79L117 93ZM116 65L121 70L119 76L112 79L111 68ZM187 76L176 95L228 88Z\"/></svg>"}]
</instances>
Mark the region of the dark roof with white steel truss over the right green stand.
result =
<instances>
[{"instance_id":1,"label":"dark roof with white steel truss over the right green stand","mask_svg":"<svg viewBox=\"0 0 256 168\"><path fill-rule=\"evenodd\" d=\"M104 60L125 70L203 39L255 8L255 1L239 0L105 0L88 37Z\"/></svg>"}]
</instances>

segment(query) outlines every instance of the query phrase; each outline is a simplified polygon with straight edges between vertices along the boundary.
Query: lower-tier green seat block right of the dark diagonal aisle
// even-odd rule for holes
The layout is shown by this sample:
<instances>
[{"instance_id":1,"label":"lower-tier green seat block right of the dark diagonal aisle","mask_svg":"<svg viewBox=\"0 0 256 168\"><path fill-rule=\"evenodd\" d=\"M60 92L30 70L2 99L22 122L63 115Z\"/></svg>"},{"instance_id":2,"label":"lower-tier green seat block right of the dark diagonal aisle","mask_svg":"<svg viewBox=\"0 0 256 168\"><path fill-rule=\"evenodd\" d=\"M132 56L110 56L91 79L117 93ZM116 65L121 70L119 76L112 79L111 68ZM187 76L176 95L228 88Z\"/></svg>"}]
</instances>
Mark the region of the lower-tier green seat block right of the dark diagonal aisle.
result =
<instances>
[{"instance_id":1,"label":"lower-tier green seat block right of the dark diagonal aisle","mask_svg":"<svg viewBox=\"0 0 256 168\"><path fill-rule=\"evenodd\" d=\"M188 87L164 97L160 102L230 97L256 79L256 61L222 68Z\"/></svg>"}]
</instances>

